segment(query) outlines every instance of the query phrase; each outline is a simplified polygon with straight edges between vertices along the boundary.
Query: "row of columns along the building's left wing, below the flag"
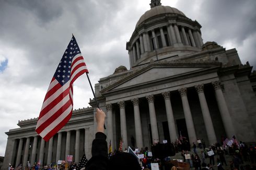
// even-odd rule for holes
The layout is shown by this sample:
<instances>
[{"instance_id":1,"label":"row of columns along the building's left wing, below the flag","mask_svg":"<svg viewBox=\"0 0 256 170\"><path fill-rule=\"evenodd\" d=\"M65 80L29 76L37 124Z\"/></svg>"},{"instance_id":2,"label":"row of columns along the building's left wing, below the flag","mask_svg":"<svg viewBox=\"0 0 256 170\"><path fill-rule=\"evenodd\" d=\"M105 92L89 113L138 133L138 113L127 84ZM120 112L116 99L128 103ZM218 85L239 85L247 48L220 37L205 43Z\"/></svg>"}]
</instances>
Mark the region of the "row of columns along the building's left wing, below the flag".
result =
<instances>
[{"instance_id":1,"label":"row of columns along the building's left wing, below the flag","mask_svg":"<svg viewBox=\"0 0 256 170\"><path fill-rule=\"evenodd\" d=\"M87 131L88 131L88 129L85 129L85 145L84 145L85 151L87 151L87 147L88 147ZM30 148L30 137L27 137L23 162L22 161L20 162L20 159L21 159L22 146L23 146L25 138L19 139L16 166L18 166L20 163L22 163L22 165L25 166L25 165L27 165L27 161L30 161L31 163L34 163L35 161L37 161L36 154L37 154L38 138L39 138L39 136L35 136L33 138L31 159L28 160L29 148ZM43 164L44 145L45 145L45 141L41 138L39 157L38 157L38 160L41 161L41 164ZM62 132L59 132L57 135L57 148L56 148L56 159L55 159L56 163L58 160L61 160L61 151L62 151L61 145L62 145ZM70 148L71 148L71 131L67 131L66 145L65 145L65 160L66 160L66 156L70 154ZM79 162L79 159L80 159L79 152L80 152L80 129L77 129L76 130L76 140L75 140L75 160L74 160L77 163ZM48 164L48 165L50 165L52 163L52 153L53 153L53 137L49 140L49 144L48 144L48 154L47 154L47 161L46 161L46 164Z\"/></svg>"}]
</instances>

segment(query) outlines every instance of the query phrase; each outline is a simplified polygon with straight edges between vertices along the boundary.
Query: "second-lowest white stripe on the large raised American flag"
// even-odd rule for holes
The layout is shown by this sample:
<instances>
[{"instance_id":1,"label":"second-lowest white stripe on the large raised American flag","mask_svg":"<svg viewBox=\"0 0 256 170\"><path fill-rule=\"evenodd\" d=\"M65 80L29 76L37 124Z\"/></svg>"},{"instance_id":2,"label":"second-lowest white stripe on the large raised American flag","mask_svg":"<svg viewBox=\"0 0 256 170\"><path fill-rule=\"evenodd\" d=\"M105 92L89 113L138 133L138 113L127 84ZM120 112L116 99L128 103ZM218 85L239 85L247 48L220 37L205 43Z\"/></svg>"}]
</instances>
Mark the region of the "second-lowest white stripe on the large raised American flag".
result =
<instances>
[{"instance_id":1,"label":"second-lowest white stripe on the large raised American flag","mask_svg":"<svg viewBox=\"0 0 256 170\"><path fill-rule=\"evenodd\" d=\"M69 95L67 94L58 104L56 104L49 112L47 112L43 117L41 117L37 122L38 128L44 122L46 122L54 113L56 113L67 101L69 100Z\"/></svg>"}]
</instances>

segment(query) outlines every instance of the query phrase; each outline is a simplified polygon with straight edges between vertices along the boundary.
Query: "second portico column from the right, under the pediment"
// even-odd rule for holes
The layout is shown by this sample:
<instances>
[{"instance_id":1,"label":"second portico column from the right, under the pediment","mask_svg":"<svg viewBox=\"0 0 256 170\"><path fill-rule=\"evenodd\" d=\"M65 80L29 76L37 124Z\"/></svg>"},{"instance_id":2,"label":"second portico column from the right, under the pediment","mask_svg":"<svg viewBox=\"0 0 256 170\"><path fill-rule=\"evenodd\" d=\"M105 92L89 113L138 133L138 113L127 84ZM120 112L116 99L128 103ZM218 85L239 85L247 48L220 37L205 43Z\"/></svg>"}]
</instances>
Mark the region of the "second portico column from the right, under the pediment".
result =
<instances>
[{"instance_id":1,"label":"second portico column from the right, under the pediment","mask_svg":"<svg viewBox=\"0 0 256 170\"><path fill-rule=\"evenodd\" d=\"M203 114L203 118L204 118L204 125L205 125L209 143L215 144L217 142L217 138L215 135L210 111L209 111L209 108L208 108L208 105L207 105L207 102L205 99L205 95L204 95L204 84L199 84L199 85L195 86L195 89L199 96L201 110L202 110L202 114Z\"/></svg>"}]
</instances>

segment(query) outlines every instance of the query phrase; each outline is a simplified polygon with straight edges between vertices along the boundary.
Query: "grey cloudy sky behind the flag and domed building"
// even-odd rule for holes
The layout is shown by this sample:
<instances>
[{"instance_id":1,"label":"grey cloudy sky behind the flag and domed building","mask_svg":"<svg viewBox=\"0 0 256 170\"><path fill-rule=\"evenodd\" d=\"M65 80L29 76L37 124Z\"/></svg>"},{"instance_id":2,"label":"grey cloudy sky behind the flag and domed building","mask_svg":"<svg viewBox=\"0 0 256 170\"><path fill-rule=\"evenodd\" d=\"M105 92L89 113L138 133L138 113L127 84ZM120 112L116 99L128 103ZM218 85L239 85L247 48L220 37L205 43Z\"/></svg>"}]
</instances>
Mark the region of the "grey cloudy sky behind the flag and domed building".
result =
<instances>
[{"instance_id":1,"label":"grey cloudy sky behind the flag and domed building","mask_svg":"<svg viewBox=\"0 0 256 170\"><path fill-rule=\"evenodd\" d=\"M54 71L74 33L92 84L129 67L125 50L149 0L0 0L0 156L9 129L39 116ZM204 42L236 48L243 64L256 66L255 0L162 0L202 25ZM254 69L254 68L253 68ZM74 84L74 108L89 106L85 75Z\"/></svg>"}]
</instances>

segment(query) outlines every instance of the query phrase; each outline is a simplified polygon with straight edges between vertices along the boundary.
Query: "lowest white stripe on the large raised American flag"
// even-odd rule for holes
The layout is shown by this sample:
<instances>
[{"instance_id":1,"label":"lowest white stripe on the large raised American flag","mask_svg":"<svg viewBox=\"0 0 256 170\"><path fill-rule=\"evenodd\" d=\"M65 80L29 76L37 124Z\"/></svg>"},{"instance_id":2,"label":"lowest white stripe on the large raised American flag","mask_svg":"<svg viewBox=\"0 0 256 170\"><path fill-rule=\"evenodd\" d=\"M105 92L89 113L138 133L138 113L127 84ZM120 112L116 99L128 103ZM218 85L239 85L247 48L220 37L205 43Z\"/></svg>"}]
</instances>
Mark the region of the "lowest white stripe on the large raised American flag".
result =
<instances>
[{"instance_id":1,"label":"lowest white stripe on the large raised American flag","mask_svg":"<svg viewBox=\"0 0 256 170\"><path fill-rule=\"evenodd\" d=\"M54 120L52 124L50 124L48 127L46 127L39 135L44 138L52 129L54 129L57 125L59 125L62 120L64 120L67 115L72 111L73 106L70 105L66 111L64 111L61 116L59 116L57 119Z\"/></svg>"}]
</instances>

